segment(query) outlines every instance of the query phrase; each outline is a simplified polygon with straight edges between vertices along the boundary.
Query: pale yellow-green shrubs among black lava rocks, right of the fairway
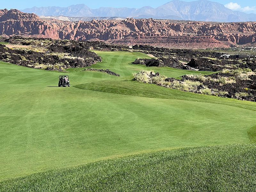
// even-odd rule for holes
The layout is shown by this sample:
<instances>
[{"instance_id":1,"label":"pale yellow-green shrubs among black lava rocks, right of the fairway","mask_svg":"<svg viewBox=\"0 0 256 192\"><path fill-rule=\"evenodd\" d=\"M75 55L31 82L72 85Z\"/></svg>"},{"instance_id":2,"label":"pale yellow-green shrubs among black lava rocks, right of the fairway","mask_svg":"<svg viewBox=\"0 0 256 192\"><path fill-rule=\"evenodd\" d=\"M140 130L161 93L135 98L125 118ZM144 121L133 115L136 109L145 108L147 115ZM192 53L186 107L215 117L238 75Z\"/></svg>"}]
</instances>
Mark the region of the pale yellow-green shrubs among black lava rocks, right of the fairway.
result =
<instances>
[{"instance_id":1,"label":"pale yellow-green shrubs among black lava rocks, right of the fairway","mask_svg":"<svg viewBox=\"0 0 256 192\"><path fill-rule=\"evenodd\" d=\"M234 76L220 76L221 74L232 74ZM137 80L139 82L149 83L149 84L153 83L159 86L177 89L180 91L195 92L195 93L201 93L205 95L214 95L214 96L220 96L220 97L230 95L230 97L236 98L236 99L245 99L246 96L251 96L250 99L252 101L255 101L254 97L256 96L256 92L249 90L248 88L243 89L243 91L247 91L247 92L236 92L234 95L232 93L229 93L228 90L221 89L223 85L235 84L236 78L241 80L241 77L242 77L241 74L245 74L247 76L246 79L242 79L242 80L247 80L249 79L248 77L250 75L255 75L254 72L252 72L252 70L250 69L236 69L236 70L224 69L222 73L212 74L214 78L212 78L211 75L206 77L201 74L199 75L191 74L191 75L183 76L183 78L180 80L174 80L174 79L167 78L166 76L160 76L159 74L156 75L154 71L147 71L147 70L140 71L139 73L133 73L133 76L134 76L134 80ZM215 86L212 85L210 82L215 83ZM211 87L208 87L208 84ZM250 94L248 92L250 92Z\"/></svg>"}]
</instances>

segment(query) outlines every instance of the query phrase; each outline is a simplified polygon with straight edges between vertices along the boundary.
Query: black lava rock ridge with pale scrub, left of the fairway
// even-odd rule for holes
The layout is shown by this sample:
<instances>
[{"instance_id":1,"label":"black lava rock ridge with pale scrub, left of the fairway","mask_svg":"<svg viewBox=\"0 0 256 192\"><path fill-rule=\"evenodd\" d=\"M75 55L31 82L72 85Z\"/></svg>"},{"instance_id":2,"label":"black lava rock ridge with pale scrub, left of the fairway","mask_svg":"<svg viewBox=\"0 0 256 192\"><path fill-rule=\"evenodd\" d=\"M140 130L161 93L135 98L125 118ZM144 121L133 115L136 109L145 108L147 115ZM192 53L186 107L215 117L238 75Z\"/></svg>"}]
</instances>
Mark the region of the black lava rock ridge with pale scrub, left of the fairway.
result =
<instances>
[{"instance_id":1,"label":"black lava rock ridge with pale scrub, left of the fairway","mask_svg":"<svg viewBox=\"0 0 256 192\"><path fill-rule=\"evenodd\" d=\"M71 45L65 41L55 40L45 47L46 52L28 49L9 49L0 44L0 60L29 68L65 71L66 68L89 67L102 61L95 53L88 51L83 44ZM33 47L31 47L33 49Z\"/></svg>"}]
</instances>

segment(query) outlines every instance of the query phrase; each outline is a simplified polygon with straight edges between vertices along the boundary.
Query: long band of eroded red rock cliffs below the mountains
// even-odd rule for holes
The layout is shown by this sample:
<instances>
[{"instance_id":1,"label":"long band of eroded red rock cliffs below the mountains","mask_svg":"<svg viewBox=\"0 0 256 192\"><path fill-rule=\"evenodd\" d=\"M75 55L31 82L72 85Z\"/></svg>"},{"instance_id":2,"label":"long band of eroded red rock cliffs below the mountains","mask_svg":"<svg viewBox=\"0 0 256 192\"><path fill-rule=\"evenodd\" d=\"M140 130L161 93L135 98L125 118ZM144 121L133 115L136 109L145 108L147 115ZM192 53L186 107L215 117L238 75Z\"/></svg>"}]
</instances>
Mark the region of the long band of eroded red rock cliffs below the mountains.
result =
<instances>
[{"instance_id":1,"label":"long band of eroded red rock cliffs below the mountains","mask_svg":"<svg viewBox=\"0 0 256 192\"><path fill-rule=\"evenodd\" d=\"M256 22L218 23L133 19L60 21L40 19L16 9L0 10L0 35L69 40L101 40L112 44L151 44L206 48L256 43Z\"/></svg>"}]
</instances>

